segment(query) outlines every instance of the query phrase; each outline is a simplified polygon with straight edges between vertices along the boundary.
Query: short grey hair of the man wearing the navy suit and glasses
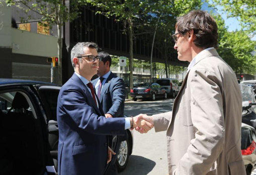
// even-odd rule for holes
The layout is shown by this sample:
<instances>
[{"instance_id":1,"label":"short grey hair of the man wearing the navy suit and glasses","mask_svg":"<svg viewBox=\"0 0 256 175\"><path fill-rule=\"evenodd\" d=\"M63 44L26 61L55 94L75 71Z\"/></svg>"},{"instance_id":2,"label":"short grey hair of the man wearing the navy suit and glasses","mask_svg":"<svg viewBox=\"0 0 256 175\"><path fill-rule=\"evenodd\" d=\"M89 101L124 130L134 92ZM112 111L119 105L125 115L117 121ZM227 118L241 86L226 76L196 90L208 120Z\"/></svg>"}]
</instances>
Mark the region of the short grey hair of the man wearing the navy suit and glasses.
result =
<instances>
[{"instance_id":1,"label":"short grey hair of the man wearing the navy suit and glasses","mask_svg":"<svg viewBox=\"0 0 256 175\"><path fill-rule=\"evenodd\" d=\"M73 68L75 68L75 64L73 63L73 58L75 57L81 57L84 54L84 47L88 47L88 48L93 48L96 49L98 51L99 47L96 43L93 42L80 42L77 43L71 50L71 63ZM82 58L79 58L79 60L81 61Z\"/></svg>"}]
</instances>

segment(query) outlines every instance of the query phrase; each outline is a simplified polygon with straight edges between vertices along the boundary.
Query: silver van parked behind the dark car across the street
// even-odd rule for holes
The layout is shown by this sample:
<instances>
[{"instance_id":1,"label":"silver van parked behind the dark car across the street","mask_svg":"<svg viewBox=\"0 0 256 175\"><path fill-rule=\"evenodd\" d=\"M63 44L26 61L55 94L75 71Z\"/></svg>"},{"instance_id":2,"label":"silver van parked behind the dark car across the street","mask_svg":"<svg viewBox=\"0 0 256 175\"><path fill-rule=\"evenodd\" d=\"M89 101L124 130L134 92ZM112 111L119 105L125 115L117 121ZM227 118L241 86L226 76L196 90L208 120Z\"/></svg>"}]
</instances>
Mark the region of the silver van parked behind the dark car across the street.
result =
<instances>
[{"instance_id":1,"label":"silver van parked behind the dark car across the street","mask_svg":"<svg viewBox=\"0 0 256 175\"><path fill-rule=\"evenodd\" d=\"M179 80L175 78L160 78L157 79L156 83L163 86L166 89L167 94L173 98L176 97L176 95L179 93Z\"/></svg>"}]
</instances>

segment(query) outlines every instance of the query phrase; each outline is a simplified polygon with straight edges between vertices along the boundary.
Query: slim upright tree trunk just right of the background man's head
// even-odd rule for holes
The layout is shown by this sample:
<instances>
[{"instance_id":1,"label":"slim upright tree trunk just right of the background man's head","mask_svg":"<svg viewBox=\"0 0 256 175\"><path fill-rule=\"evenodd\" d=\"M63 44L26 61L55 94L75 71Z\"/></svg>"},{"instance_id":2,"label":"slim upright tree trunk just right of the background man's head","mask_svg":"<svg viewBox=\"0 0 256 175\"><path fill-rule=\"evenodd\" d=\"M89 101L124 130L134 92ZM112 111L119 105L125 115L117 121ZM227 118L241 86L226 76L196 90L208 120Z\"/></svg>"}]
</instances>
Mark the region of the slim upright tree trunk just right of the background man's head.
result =
<instances>
[{"instance_id":1,"label":"slim upright tree trunk just right of the background man's head","mask_svg":"<svg viewBox=\"0 0 256 175\"><path fill-rule=\"evenodd\" d=\"M130 42L130 49L129 49L129 53L130 53L130 62L129 62L129 69L130 69L130 89L133 89L134 87L134 76L133 76L133 22L132 19L130 19L128 21L128 31L129 31L129 42Z\"/></svg>"}]
</instances>

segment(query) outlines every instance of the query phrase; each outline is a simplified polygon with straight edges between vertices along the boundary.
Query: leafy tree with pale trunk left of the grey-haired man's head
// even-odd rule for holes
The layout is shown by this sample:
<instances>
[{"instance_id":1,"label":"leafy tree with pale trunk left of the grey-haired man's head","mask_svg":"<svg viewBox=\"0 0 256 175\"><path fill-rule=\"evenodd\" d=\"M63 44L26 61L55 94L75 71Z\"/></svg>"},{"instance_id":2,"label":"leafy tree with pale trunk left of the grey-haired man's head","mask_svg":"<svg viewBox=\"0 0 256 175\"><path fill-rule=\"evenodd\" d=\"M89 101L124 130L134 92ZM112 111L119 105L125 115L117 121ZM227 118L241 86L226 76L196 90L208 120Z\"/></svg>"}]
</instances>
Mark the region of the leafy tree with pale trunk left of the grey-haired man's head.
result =
<instances>
[{"instance_id":1,"label":"leafy tree with pale trunk left of the grey-haired man's head","mask_svg":"<svg viewBox=\"0 0 256 175\"><path fill-rule=\"evenodd\" d=\"M5 0L8 6L16 6L23 10L26 14L33 12L41 16L44 26L52 28L53 25L57 25L58 30L58 84L62 85L62 32L61 27L68 21L72 21L79 15L79 6L83 5L80 0L68 1L65 0ZM69 8L71 7L71 8ZM28 21L31 16L27 16Z\"/></svg>"}]
</instances>

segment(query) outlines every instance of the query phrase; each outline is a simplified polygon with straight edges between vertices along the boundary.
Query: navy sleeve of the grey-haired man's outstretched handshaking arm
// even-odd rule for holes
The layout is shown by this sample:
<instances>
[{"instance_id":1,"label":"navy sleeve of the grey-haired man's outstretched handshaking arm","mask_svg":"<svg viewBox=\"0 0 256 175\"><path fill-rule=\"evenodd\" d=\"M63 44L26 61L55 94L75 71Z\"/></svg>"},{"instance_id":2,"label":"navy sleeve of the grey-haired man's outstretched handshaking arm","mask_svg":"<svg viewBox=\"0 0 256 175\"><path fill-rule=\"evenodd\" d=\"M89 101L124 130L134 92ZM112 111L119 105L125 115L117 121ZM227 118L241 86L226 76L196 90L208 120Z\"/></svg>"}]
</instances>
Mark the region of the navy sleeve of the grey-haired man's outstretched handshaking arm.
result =
<instances>
[{"instance_id":1,"label":"navy sleeve of the grey-haired man's outstretched handshaking arm","mask_svg":"<svg viewBox=\"0 0 256 175\"><path fill-rule=\"evenodd\" d=\"M88 99L81 91L75 89L60 91L59 117L71 117L79 128L89 133L123 135L125 119L98 116L88 105Z\"/></svg>"}]
</instances>

